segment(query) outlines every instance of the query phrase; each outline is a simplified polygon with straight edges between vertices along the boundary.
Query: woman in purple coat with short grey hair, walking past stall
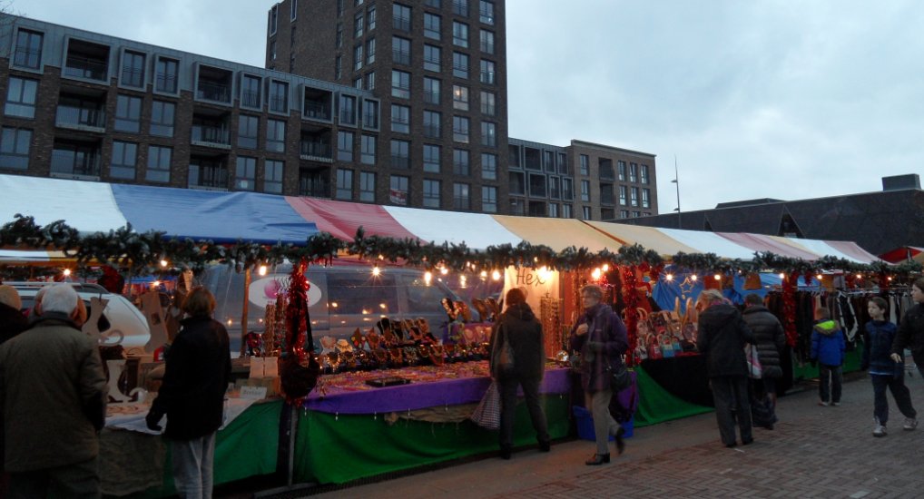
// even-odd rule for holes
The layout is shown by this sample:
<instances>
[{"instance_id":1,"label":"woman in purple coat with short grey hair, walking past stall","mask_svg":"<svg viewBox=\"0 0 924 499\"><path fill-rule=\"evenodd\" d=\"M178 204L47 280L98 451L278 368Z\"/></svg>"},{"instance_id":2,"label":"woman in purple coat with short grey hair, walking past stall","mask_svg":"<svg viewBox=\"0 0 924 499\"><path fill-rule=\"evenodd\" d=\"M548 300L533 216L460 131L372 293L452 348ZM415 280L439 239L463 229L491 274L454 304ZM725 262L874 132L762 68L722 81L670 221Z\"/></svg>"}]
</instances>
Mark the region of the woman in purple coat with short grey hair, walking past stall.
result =
<instances>
[{"instance_id":1,"label":"woman in purple coat with short grey hair, walking past stall","mask_svg":"<svg viewBox=\"0 0 924 499\"><path fill-rule=\"evenodd\" d=\"M615 435L617 454L622 454L626 448L623 441L625 431L610 414L610 399L614 396L610 380L612 370L618 369L623 362L628 340L626 326L619 314L602 303L602 287L584 286L580 296L584 313L571 330L571 350L580 353L578 370L584 389L584 404L593 418L593 432L597 440L597 452L585 464L599 466L610 462L610 435Z\"/></svg>"}]
</instances>

